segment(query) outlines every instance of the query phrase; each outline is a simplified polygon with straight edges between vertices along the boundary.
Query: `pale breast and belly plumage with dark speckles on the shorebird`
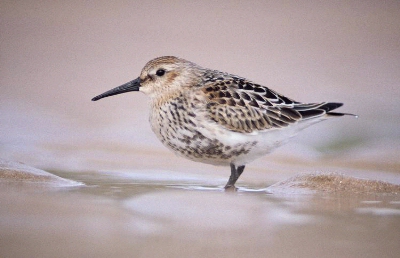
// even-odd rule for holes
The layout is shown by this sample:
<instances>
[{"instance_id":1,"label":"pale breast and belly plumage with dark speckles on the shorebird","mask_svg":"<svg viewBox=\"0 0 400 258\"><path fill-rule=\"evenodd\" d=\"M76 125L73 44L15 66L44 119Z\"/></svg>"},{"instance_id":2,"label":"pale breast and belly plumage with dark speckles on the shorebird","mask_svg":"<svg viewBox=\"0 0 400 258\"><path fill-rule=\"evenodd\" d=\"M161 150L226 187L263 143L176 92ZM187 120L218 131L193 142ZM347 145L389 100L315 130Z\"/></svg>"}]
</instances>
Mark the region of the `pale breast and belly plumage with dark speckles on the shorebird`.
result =
<instances>
[{"instance_id":1,"label":"pale breast and belly plumage with dark speckles on the shorebird","mask_svg":"<svg viewBox=\"0 0 400 258\"><path fill-rule=\"evenodd\" d=\"M214 165L227 165L246 155L256 145L207 116L202 92L181 95L153 103L150 112L153 132L160 141L179 156ZM239 141L238 141L239 140Z\"/></svg>"}]
</instances>

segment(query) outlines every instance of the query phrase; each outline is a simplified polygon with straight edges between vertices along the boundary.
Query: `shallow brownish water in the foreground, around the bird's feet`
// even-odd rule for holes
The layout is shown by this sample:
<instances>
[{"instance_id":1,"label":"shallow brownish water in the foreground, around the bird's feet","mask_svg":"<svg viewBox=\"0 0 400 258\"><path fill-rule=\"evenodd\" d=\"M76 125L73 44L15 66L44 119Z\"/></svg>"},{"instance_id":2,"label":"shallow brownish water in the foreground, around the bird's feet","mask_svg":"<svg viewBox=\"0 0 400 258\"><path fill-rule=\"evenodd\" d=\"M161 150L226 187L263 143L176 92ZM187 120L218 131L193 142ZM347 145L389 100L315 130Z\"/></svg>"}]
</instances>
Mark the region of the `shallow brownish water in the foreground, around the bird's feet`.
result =
<instances>
[{"instance_id":1,"label":"shallow brownish water in the foreground, around the bird's feet","mask_svg":"<svg viewBox=\"0 0 400 258\"><path fill-rule=\"evenodd\" d=\"M400 251L398 195L270 193L251 184L225 192L208 178L156 180L157 173L55 172L85 186L45 190L2 183L2 257L397 257Z\"/></svg>"}]
</instances>

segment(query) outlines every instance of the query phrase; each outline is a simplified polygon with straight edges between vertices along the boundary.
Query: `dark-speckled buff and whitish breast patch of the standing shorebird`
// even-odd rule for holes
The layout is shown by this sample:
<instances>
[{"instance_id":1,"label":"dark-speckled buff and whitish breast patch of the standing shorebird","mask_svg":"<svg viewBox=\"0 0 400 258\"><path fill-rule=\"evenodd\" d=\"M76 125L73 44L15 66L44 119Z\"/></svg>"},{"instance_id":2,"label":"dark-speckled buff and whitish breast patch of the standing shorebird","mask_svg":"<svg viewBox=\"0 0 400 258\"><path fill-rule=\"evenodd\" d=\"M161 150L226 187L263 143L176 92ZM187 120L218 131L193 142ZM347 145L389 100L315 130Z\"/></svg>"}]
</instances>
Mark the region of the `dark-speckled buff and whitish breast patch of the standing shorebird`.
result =
<instances>
[{"instance_id":1,"label":"dark-speckled buff and whitish breast patch of the standing shorebird","mask_svg":"<svg viewBox=\"0 0 400 258\"><path fill-rule=\"evenodd\" d=\"M193 161L214 165L226 165L240 155L247 154L249 144L226 145L218 140L218 135L206 137L201 131L207 118L195 101L187 98L169 99L162 105L154 105L150 113L150 123L160 141L177 155Z\"/></svg>"}]
</instances>

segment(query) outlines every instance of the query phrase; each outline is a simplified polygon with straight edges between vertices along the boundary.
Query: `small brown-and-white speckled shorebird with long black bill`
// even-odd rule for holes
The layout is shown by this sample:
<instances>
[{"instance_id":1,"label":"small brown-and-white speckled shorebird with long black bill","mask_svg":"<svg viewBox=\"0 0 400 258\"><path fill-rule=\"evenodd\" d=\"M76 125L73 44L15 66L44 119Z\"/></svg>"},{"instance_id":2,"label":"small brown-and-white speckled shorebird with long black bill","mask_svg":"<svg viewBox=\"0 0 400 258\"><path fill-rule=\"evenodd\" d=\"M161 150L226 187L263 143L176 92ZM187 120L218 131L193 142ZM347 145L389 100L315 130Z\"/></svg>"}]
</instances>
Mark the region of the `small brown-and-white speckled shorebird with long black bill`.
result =
<instances>
[{"instance_id":1,"label":"small brown-and-white speckled shorebird with long black bill","mask_svg":"<svg viewBox=\"0 0 400 258\"><path fill-rule=\"evenodd\" d=\"M240 76L164 56L140 76L92 100L141 91L150 97L150 124L158 139L187 159L226 165L225 189L235 188L245 165L330 117L342 103L302 103Z\"/></svg>"}]
</instances>

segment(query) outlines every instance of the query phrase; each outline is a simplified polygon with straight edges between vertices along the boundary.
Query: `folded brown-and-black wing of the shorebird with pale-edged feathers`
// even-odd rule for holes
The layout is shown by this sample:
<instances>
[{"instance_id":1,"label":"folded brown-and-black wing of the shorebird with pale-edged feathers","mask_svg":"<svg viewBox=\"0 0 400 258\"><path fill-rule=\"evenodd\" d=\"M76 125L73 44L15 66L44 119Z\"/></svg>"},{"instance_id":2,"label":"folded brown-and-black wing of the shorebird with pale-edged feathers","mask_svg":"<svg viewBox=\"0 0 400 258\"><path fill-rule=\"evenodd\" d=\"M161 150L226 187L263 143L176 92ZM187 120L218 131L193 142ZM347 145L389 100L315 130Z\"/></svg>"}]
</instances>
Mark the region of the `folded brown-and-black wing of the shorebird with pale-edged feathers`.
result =
<instances>
[{"instance_id":1,"label":"folded brown-and-black wing of the shorebird with pale-edged feathers","mask_svg":"<svg viewBox=\"0 0 400 258\"><path fill-rule=\"evenodd\" d=\"M208 116L236 132L283 128L323 116L341 106L341 103L297 102L268 87L230 74L208 77L201 87L208 101Z\"/></svg>"}]
</instances>

